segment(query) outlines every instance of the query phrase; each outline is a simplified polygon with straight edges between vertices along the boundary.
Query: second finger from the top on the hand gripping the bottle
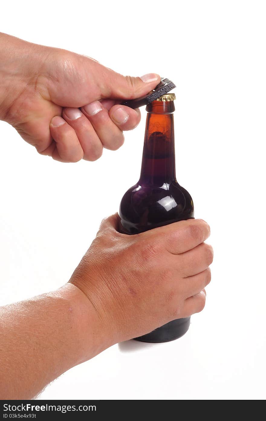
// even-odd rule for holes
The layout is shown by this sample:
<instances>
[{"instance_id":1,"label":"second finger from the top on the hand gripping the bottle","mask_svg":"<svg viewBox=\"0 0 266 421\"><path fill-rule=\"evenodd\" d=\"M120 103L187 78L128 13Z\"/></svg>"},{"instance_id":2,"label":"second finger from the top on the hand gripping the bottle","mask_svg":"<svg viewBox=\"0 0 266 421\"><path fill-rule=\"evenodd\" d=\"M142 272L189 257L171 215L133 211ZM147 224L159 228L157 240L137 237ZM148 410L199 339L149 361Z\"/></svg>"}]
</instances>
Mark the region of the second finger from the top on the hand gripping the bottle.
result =
<instances>
[{"instance_id":1,"label":"second finger from the top on the hand gripping the bottle","mask_svg":"<svg viewBox=\"0 0 266 421\"><path fill-rule=\"evenodd\" d=\"M179 272L184 278L191 277L207 269L213 261L213 248L205 242L178 256Z\"/></svg>"}]
</instances>

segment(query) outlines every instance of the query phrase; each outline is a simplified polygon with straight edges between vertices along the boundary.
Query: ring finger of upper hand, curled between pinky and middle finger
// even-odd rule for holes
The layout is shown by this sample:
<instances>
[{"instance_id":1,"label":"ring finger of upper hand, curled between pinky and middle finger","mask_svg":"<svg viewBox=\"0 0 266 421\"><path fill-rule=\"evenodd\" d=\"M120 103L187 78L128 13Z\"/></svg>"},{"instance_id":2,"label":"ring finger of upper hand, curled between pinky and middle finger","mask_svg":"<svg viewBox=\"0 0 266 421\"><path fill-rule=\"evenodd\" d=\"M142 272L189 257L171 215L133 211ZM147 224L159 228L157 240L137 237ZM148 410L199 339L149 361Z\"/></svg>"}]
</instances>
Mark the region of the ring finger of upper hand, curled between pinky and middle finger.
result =
<instances>
[{"instance_id":1,"label":"ring finger of upper hand, curled between pinky and middle finger","mask_svg":"<svg viewBox=\"0 0 266 421\"><path fill-rule=\"evenodd\" d=\"M64 108L62 116L74 129L83 149L83 159L95 161L101 157L103 145L88 118L79 108Z\"/></svg>"}]
</instances>

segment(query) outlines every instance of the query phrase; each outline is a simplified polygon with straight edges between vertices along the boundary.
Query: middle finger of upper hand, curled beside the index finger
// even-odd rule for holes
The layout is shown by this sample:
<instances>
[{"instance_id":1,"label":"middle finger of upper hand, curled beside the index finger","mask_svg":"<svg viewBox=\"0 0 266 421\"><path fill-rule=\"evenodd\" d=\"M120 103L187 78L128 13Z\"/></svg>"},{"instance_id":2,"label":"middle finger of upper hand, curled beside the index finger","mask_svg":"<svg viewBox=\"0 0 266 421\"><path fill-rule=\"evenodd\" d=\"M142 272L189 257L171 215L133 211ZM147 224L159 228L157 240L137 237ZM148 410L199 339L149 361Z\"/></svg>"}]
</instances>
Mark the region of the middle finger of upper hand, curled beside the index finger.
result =
<instances>
[{"instance_id":1,"label":"middle finger of upper hand, curled beside the index finger","mask_svg":"<svg viewBox=\"0 0 266 421\"><path fill-rule=\"evenodd\" d=\"M122 131L109 117L108 111L100 101L94 101L81 108L83 114L90 120L101 143L106 149L117 150L124 143Z\"/></svg>"}]
</instances>

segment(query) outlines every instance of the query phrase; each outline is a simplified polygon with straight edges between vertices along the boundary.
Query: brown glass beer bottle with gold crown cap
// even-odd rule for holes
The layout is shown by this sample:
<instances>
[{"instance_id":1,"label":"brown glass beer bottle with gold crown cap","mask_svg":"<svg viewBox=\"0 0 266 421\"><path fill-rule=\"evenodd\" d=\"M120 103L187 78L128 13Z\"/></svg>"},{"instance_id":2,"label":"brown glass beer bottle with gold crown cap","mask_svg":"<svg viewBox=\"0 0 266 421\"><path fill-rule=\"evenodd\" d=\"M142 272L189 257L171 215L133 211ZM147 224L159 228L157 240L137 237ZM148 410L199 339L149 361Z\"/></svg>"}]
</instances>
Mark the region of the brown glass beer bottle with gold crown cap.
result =
<instances>
[{"instance_id":1,"label":"brown glass beer bottle with gold crown cap","mask_svg":"<svg viewBox=\"0 0 266 421\"><path fill-rule=\"evenodd\" d=\"M168 93L146 107L141 176L120 203L119 230L124 234L138 234L194 216L191 196L176 181L174 99L175 95ZM173 320L136 339L172 341L184 335L189 324L190 317Z\"/></svg>"}]
</instances>

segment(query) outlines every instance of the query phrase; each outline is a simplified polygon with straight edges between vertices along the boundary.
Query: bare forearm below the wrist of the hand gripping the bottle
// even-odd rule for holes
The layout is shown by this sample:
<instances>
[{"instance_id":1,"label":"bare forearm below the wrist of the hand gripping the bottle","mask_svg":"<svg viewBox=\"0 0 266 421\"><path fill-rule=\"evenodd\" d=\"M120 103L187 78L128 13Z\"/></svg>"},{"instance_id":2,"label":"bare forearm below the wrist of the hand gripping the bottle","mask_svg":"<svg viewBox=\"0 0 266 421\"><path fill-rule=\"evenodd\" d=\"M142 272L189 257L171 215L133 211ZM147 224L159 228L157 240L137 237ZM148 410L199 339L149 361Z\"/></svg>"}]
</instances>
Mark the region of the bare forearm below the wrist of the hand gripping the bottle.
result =
<instances>
[{"instance_id":1,"label":"bare forearm below the wrist of the hand gripping the bottle","mask_svg":"<svg viewBox=\"0 0 266 421\"><path fill-rule=\"evenodd\" d=\"M88 298L67 284L0 308L0 397L32 399L112 344Z\"/></svg>"}]
</instances>

